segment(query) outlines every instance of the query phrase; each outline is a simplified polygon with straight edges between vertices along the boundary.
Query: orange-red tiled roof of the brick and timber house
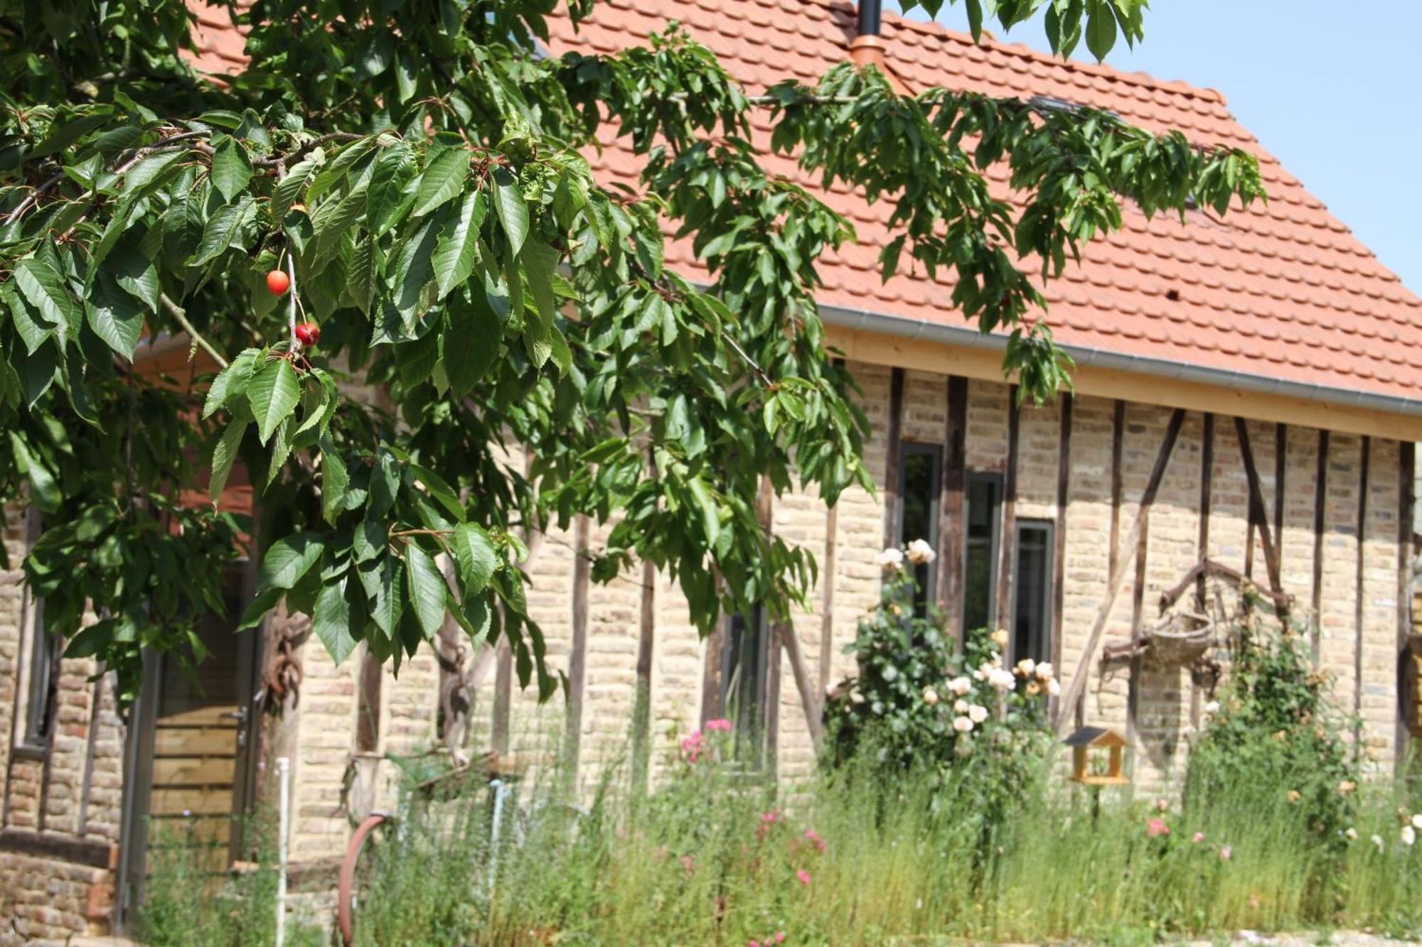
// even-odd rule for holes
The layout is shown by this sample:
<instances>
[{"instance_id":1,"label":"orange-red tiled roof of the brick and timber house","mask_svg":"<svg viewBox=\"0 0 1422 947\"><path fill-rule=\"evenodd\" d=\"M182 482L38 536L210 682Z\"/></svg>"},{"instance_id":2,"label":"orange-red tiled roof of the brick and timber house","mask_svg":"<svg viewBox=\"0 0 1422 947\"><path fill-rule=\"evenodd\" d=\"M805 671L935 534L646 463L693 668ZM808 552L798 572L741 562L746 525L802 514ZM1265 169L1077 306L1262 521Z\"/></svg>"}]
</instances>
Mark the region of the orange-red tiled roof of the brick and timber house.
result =
<instances>
[{"instance_id":1,"label":"orange-red tiled roof of the brick and timber house","mask_svg":"<svg viewBox=\"0 0 1422 947\"><path fill-rule=\"evenodd\" d=\"M201 68L240 68L242 43L226 16L198 10ZM751 91L782 78L813 82L846 58L855 34L853 4L843 0L600 0L576 31L567 20L553 21L553 48L610 53L643 43L673 20ZM889 65L910 90L1045 95L1258 156L1267 206L1234 210L1223 220L1190 212L1183 226L1176 216L1146 220L1128 209L1119 233L1086 245L1081 264L1068 264L1047 290L1047 321L1059 343L1340 394L1422 401L1415 385L1422 377L1422 300L1260 146L1223 95L1022 46L980 47L963 34L892 14L884 16L883 34ZM641 165L626 139L606 144L593 156L596 172L634 179ZM818 191L791 161L766 158L765 165ZM995 182L1005 188L1003 175ZM887 203L872 206L838 188L826 199L853 220L859 242L820 260L823 304L964 324L948 301L950 282L909 272L880 280ZM684 243L668 247L667 262L690 277L704 274Z\"/></svg>"}]
</instances>

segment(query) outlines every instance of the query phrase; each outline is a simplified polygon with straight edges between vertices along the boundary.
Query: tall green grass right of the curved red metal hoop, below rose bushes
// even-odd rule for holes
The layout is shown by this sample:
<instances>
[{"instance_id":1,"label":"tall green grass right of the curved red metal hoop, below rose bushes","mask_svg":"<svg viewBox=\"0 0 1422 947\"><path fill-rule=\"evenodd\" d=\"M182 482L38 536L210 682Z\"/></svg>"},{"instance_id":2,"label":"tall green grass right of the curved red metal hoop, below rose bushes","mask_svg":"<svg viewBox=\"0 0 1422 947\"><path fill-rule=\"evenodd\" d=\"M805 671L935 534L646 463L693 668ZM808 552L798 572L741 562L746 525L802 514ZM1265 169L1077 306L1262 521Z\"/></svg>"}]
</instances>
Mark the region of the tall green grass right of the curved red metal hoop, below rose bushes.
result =
<instances>
[{"instance_id":1,"label":"tall green grass right of the curved red metal hoop, below rose bushes","mask_svg":"<svg viewBox=\"0 0 1422 947\"><path fill-rule=\"evenodd\" d=\"M1422 923L1422 846L1402 843L1401 801L1382 788L1354 802L1357 839L1320 839L1273 786L1185 810L1103 792L1096 809L1086 791L1042 772L987 825L951 779L886 783L859 764L786 801L762 782L687 765L651 796L602 793L576 819L530 789L520 805L545 815L503 838L492 892L488 803L456 801L385 846L358 938L1148 941L1237 929L1412 933Z\"/></svg>"}]
</instances>

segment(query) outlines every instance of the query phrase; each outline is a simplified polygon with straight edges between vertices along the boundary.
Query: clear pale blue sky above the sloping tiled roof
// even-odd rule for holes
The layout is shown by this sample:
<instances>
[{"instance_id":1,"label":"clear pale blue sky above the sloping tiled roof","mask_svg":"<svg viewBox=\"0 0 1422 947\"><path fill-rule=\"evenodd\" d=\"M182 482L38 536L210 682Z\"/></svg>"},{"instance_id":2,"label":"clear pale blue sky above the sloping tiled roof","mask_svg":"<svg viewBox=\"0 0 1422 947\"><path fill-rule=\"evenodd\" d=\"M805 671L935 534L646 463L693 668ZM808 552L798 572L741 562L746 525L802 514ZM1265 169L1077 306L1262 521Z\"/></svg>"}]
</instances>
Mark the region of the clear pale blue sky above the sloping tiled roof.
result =
<instances>
[{"instance_id":1,"label":"clear pale blue sky above the sloping tiled roof","mask_svg":"<svg viewBox=\"0 0 1422 947\"><path fill-rule=\"evenodd\" d=\"M939 23L966 33L961 1ZM1145 28L1106 63L1224 92L1264 148L1422 293L1422 1L1152 0ZM1039 16L998 38L1049 48ZM1085 43L1078 55L1089 57Z\"/></svg>"}]
</instances>

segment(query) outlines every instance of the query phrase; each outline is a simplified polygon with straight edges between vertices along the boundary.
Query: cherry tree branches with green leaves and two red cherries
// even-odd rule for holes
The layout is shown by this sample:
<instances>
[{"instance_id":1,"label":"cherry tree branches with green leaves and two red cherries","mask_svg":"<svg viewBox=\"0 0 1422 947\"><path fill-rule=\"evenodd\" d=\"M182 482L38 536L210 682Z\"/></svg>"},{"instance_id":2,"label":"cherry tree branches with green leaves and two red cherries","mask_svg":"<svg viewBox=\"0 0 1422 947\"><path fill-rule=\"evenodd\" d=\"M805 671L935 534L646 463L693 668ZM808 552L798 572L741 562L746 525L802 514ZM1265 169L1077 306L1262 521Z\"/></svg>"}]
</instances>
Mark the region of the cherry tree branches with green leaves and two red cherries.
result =
<instances>
[{"instance_id":1,"label":"cherry tree branches with green leaves and two red cherries","mask_svg":"<svg viewBox=\"0 0 1422 947\"><path fill-rule=\"evenodd\" d=\"M1123 203L1261 196L1247 154L1101 112L849 64L752 95L675 26L549 54L550 17L590 0L202 13L246 31L243 71L193 70L181 0L0 0L0 499L43 518L24 573L48 631L124 698L142 648L202 658L193 616L245 550L246 626L284 599L334 658L398 665L448 616L545 695L529 530L611 522L594 577L650 560L702 630L801 600L813 560L757 496L870 485L815 306L853 229L768 154L887 202L884 274L951 276L1034 398L1069 371L1039 287ZM589 166L614 135L636 186ZM162 373L175 346L196 382ZM215 503L233 471L255 520Z\"/></svg>"}]
</instances>

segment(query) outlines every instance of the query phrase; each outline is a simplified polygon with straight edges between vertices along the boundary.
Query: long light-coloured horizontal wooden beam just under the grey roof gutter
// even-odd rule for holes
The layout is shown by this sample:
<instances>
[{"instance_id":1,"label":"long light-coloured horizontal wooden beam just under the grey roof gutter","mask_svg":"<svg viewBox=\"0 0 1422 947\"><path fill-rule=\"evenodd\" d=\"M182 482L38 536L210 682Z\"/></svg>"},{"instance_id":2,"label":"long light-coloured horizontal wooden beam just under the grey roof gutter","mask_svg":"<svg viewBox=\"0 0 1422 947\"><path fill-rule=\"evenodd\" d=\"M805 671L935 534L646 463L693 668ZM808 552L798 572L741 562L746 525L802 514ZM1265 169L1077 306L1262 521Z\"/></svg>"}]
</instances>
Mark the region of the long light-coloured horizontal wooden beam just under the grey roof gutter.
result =
<instances>
[{"instance_id":1,"label":"long light-coloured horizontal wooden beam just under the grey roof gutter","mask_svg":"<svg viewBox=\"0 0 1422 947\"><path fill-rule=\"evenodd\" d=\"M855 361L900 365L907 370L954 374L991 382L1003 381L1001 351L967 348L926 338L886 336L839 326L826 326L825 336L828 344L842 350L848 358ZM1415 414L1392 414L1315 398L1247 391L1226 384L1160 378L1096 365L1076 365L1071 375L1076 397L1092 395L1138 401L1166 408L1210 411L1223 417L1240 415L1270 424L1283 421L1347 434L1371 434L1395 441L1422 441L1422 415Z\"/></svg>"}]
</instances>

